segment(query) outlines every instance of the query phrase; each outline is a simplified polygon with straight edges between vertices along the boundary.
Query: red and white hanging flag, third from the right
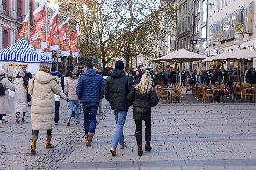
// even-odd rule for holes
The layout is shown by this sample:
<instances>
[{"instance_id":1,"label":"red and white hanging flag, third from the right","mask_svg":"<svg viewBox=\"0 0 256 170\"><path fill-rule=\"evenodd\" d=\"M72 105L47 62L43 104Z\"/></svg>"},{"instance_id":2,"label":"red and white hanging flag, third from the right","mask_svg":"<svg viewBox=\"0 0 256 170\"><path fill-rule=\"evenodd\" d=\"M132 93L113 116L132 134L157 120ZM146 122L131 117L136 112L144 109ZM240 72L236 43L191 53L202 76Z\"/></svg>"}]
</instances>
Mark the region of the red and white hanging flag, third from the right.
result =
<instances>
[{"instance_id":1,"label":"red and white hanging flag, third from the right","mask_svg":"<svg viewBox=\"0 0 256 170\"><path fill-rule=\"evenodd\" d=\"M52 50L59 50L59 11L58 7L50 19L50 31L47 40Z\"/></svg>"}]
</instances>

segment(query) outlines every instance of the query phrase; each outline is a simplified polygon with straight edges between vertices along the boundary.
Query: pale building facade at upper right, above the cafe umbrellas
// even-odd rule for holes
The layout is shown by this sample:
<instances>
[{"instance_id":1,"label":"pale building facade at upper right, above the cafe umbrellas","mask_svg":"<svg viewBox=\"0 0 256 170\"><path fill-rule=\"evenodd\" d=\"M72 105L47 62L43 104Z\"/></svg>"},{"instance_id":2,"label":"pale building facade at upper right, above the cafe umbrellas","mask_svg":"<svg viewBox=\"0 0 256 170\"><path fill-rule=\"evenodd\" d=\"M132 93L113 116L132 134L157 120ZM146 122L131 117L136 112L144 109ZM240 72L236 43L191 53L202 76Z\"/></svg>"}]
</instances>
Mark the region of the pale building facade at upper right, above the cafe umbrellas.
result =
<instances>
[{"instance_id":1,"label":"pale building facade at upper right, above the cafe umbrellas","mask_svg":"<svg viewBox=\"0 0 256 170\"><path fill-rule=\"evenodd\" d=\"M209 0L209 49L219 53L255 45L255 0ZM228 64L229 65L229 64ZM232 63L232 68L238 67ZM256 67L256 60L242 61L242 67Z\"/></svg>"}]
</instances>

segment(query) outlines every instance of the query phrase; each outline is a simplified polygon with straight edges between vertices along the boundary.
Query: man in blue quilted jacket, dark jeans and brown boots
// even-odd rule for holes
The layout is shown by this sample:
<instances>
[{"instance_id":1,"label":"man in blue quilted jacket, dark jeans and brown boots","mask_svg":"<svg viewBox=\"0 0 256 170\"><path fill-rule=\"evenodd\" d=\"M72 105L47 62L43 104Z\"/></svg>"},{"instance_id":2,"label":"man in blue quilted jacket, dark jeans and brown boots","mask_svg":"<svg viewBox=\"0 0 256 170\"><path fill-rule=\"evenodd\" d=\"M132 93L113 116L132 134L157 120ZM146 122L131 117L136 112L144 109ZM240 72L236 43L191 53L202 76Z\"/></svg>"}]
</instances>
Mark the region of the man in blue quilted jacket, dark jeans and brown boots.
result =
<instances>
[{"instance_id":1,"label":"man in blue quilted jacket, dark jeans and brown boots","mask_svg":"<svg viewBox=\"0 0 256 170\"><path fill-rule=\"evenodd\" d=\"M90 63L84 67L84 72L78 79L76 93L83 104L84 128L87 135L86 145L91 146L96 129L96 114L99 100L104 96L105 82Z\"/></svg>"}]
</instances>

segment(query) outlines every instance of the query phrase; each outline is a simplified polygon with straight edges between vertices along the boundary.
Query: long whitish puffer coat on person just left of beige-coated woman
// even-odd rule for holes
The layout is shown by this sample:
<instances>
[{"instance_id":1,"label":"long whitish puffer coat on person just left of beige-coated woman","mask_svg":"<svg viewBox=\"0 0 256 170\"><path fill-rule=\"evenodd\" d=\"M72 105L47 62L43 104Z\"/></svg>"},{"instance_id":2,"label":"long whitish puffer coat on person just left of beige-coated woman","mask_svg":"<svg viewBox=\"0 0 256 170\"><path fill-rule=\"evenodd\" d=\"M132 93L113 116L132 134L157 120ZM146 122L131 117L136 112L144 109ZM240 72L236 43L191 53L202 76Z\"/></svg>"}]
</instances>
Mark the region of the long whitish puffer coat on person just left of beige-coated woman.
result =
<instances>
[{"instance_id":1,"label":"long whitish puffer coat on person just left of beige-coated woman","mask_svg":"<svg viewBox=\"0 0 256 170\"><path fill-rule=\"evenodd\" d=\"M24 86L23 78L16 78L14 80L15 95L14 95L14 106L15 112L28 112L27 102L27 88Z\"/></svg>"}]
</instances>

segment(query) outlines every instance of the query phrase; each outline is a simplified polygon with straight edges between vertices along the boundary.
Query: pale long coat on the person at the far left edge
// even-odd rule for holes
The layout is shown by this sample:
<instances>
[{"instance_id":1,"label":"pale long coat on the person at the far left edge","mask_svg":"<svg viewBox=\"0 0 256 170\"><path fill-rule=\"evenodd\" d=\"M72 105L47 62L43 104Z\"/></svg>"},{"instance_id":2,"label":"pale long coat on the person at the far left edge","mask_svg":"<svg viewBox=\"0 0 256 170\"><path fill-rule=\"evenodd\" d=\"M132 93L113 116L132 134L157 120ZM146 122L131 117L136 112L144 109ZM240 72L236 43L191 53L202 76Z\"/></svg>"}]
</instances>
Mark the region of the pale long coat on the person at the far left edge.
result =
<instances>
[{"instance_id":1,"label":"pale long coat on the person at the far left edge","mask_svg":"<svg viewBox=\"0 0 256 170\"><path fill-rule=\"evenodd\" d=\"M15 91L15 87L13 83L11 83L7 78L4 78L3 76L0 76L0 82L5 87L5 96L0 96L0 114L10 115L14 113L14 111L12 110L12 106L10 103L8 89L11 91Z\"/></svg>"}]
</instances>

